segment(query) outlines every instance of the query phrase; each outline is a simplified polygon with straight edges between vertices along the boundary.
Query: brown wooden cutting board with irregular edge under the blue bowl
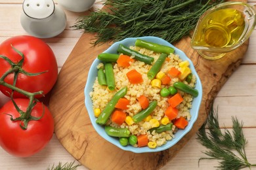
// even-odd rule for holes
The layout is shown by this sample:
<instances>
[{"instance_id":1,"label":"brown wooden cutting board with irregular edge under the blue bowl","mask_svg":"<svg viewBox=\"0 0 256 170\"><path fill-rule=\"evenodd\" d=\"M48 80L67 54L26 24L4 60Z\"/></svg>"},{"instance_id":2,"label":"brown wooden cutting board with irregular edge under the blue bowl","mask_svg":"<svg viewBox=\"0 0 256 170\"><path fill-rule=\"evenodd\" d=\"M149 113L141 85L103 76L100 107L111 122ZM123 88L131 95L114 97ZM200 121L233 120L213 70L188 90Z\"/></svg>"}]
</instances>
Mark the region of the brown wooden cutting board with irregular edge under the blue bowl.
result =
<instances>
[{"instance_id":1,"label":"brown wooden cutting board with irregular edge under the blue bowl","mask_svg":"<svg viewBox=\"0 0 256 170\"><path fill-rule=\"evenodd\" d=\"M246 1L244 1L246 2ZM207 60L198 56L185 37L175 46L192 60L203 84L203 99L198 120L191 131L175 146L162 152L135 154L123 151L105 141L93 128L85 108L84 88L89 67L98 54L111 43L93 47L92 34L83 34L64 63L51 93L49 108L55 120L55 133L60 143L89 169L160 169L195 135L223 84L238 68L249 41L221 59ZM146 162L146 163L144 163Z\"/></svg>"}]
</instances>

